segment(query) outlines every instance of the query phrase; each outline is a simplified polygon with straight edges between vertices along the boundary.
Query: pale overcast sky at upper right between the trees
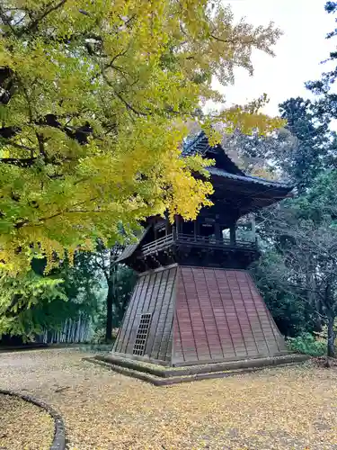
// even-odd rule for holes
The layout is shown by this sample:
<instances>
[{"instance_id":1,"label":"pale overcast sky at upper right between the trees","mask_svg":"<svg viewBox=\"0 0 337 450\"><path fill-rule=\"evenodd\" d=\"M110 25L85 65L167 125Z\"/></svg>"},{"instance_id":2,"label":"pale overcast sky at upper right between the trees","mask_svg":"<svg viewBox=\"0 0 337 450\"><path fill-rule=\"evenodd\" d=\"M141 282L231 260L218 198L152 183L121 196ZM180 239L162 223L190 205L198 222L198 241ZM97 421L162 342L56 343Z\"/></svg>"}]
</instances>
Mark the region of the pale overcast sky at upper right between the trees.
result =
<instances>
[{"instance_id":1,"label":"pale overcast sky at upper right between the trees","mask_svg":"<svg viewBox=\"0 0 337 450\"><path fill-rule=\"evenodd\" d=\"M335 27L334 16L324 11L325 0L224 0L232 5L235 19L246 18L254 25L274 22L284 35L272 58L256 50L254 75L238 69L235 85L226 87L229 103L245 103L263 93L270 103L265 112L278 114L278 104L291 96L310 96L304 83L315 80L326 70L320 62L336 48L337 38L325 40Z\"/></svg>"}]
</instances>

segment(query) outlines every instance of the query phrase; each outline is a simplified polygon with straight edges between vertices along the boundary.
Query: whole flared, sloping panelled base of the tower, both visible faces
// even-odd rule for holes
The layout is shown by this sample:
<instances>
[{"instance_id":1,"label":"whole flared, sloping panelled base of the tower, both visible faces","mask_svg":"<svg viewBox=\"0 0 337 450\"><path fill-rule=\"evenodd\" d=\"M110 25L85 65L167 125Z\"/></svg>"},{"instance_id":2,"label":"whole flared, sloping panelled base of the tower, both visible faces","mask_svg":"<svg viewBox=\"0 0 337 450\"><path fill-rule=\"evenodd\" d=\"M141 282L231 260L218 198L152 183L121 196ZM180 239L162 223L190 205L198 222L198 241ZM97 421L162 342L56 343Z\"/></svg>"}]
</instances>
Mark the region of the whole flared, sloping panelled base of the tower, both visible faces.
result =
<instances>
[{"instance_id":1,"label":"whole flared, sloping panelled base of the tower, both visible faces","mask_svg":"<svg viewBox=\"0 0 337 450\"><path fill-rule=\"evenodd\" d=\"M135 356L142 314L151 322L144 355ZM112 355L180 366L287 353L248 272L170 266L139 275Z\"/></svg>"}]
</instances>

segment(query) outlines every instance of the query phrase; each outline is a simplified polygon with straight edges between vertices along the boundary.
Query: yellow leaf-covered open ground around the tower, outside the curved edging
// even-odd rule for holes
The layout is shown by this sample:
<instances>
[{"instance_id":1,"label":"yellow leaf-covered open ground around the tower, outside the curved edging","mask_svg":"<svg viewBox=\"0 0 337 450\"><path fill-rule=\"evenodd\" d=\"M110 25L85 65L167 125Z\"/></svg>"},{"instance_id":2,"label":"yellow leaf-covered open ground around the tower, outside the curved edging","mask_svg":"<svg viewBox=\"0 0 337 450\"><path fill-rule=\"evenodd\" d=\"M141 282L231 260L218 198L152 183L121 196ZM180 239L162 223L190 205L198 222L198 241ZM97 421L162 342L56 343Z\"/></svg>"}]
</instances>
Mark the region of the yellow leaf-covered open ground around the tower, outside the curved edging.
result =
<instances>
[{"instance_id":1,"label":"yellow leaf-covered open ground around the tower, outside the curved edging","mask_svg":"<svg viewBox=\"0 0 337 450\"><path fill-rule=\"evenodd\" d=\"M0 356L0 389L49 402L65 419L71 449L337 449L335 369L273 368L154 387L83 356Z\"/></svg>"}]
</instances>

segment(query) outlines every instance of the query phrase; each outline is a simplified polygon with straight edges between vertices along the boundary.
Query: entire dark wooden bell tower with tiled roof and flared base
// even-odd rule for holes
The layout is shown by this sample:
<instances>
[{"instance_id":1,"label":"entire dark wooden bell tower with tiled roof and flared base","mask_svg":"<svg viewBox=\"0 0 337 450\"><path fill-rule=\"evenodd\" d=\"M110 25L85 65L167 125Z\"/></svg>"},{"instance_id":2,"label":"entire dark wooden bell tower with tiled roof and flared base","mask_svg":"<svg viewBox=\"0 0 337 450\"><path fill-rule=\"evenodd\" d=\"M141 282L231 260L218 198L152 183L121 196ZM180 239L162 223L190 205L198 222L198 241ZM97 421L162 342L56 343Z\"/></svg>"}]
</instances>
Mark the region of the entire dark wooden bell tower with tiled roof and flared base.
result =
<instances>
[{"instance_id":1,"label":"entire dark wooden bell tower with tiled roof and flared base","mask_svg":"<svg viewBox=\"0 0 337 450\"><path fill-rule=\"evenodd\" d=\"M238 220L288 196L291 186L245 175L200 132L182 156L209 167L214 205L197 220L146 220L120 262L139 273L113 352L163 365L278 356L286 347L247 267L259 257L254 223Z\"/></svg>"}]
</instances>

